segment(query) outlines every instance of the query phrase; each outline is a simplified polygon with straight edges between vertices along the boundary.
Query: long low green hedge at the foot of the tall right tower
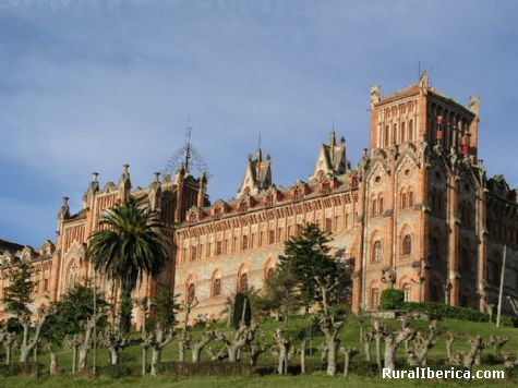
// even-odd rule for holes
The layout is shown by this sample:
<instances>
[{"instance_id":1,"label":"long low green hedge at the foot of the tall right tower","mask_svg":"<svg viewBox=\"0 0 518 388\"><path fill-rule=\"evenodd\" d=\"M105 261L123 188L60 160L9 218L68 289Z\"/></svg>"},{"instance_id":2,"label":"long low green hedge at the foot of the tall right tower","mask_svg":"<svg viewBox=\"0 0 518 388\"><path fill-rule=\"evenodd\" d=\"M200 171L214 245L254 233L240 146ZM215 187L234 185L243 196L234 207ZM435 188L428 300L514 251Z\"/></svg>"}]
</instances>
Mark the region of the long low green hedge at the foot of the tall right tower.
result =
<instances>
[{"instance_id":1,"label":"long low green hedge at the foot of the tall right tower","mask_svg":"<svg viewBox=\"0 0 518 388\"><path fill-rule=\"evenodd\" d=\"M382 293L383 299L383 293ZM466 308L466 307L454 307L444 303L437 302L403 302L399 306L401 310L407 310L409 312L420 312L425 313L433 318L453 318L460 320L471 320L471 322L489 322L490 316L487 314L478 312L475 310ZM510 317L502 317L502 325L504 326L517 326L518 320Z\"/></svg>"}]
</instances>

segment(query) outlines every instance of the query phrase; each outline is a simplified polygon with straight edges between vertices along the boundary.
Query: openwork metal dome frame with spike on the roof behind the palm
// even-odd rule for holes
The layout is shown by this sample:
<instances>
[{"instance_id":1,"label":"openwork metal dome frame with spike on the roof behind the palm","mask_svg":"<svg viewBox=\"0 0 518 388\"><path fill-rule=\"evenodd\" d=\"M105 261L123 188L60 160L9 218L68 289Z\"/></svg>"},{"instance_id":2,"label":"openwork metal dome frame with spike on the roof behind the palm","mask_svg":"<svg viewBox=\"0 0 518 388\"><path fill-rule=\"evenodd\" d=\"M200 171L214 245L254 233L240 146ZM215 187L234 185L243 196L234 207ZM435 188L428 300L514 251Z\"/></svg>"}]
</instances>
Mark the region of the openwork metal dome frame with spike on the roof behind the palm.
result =
<instances>
[{"instance_id":1,"label":"openwork metal dome frame with spike on the roof behind the palm","mask_svg":"<svg viewBox=\"0 0 518 388\"><path fill-rule=\"evenodd\" d=\"M183 165L186 173L196 172L201 174L205 172L207 178L210 177L208 172L207 163L203 158L202 154L192 145L191 134L192 134L191 121L188 119L188 126L185 129L185 144L183 147L177 149L174 154L167 160L166 168L164 173L174 174L180 165Z\"/></svg>"}]
</instances>

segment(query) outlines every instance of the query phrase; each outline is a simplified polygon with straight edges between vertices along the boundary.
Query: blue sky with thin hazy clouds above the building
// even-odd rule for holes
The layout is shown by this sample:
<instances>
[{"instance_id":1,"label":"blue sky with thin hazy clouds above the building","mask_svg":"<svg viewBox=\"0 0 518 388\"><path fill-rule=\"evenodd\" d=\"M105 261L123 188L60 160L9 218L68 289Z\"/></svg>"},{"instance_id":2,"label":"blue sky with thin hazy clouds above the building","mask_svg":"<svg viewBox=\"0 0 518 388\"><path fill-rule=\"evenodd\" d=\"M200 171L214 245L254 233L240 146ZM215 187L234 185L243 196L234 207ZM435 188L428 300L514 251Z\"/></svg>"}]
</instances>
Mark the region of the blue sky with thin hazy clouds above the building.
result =
<instances>
[{"instance_id":1,"label":"blue sky with thin hazy clouds above the building","mask_svg":"<svg viewBox=\"0 0 518 388\"><path fill-rule=\"evenodd\" d=\"M181 147L188 118L212 199L234 195L262 133L275 183L305 180L333 118L354 166L369 89L417 81L481 97L480 158L511 187L516 1L2 1L0 238L53 239L92 171L134 185Z\"/></svg>"}]
</instances>

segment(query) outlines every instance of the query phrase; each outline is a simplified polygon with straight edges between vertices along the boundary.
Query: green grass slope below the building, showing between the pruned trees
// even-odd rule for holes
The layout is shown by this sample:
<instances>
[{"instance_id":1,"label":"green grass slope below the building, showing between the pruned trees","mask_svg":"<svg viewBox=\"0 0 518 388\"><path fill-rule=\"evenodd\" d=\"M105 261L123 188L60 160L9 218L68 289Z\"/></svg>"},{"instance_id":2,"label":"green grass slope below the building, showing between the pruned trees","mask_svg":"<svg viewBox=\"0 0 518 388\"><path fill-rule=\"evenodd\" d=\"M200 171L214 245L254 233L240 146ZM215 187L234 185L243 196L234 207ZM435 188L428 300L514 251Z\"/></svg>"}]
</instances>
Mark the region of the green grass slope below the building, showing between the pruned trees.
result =
<instances>
[{"instance_id":1,"label":"green grass slope below the building, showing between the pruned trees","mask_svg":"<svg viewBox=\"0 0 518 388\"><path fill-rule=\"evenodd\" d=\"M306 326L306 319L303 317L299 317L297 319L292 319L291 322L288 323L288 329L293 329L293 328L300 328ZM390 322L387 320L386 324L389 327L397 327L398 323L396 322ZM278 323L274 322L265 322L264 324L261 325L262 331L264 334L264 338L266 341L270 341L270 332L278 326ZM414 322L412 324L417 329L422 329L424 332L427 332L427 324L423 322ZM365 327L368 326L368 323L364 325ZM346 322L345 328L340 332L340 339L341 339L341 344L342 345L356 345L358 348L360 347L359 343L359 330L360 330L360 324L356 318L349 318ZM453 320L453 319L445 319L439 323L439 338L437 340L437 343L435 347L430 351L430 357L432 359L444 359L446 354L446 348L445 348L445 342L444 338L445 335L448 331L454 331L457 335L457 340L454 343L454 351L460 350L467 350L467 339L470 336L480 334L484 339L487 339L490 335L498 335L498 336L505 336L509 338L509 342L504 347L503 351L504 352L513 352L517 353L518 352L518 329L516 328L496 328L494 325L490 325L486 323L471 323L471 322L458 322L458 320ZM195 330L193 332L194 337L196 338L197 336L201 335L201 330ZM313 348L316 348L318 343L323 341L322 336L320 332L315 334L315 337L313 339ZM483 354L489 354L492 353L492 349L486 349ZM374 356L374 343L372 345L372 355ZM15 357L16 355L14 355ZM402 357L403 356L403 347L400 347L398 350L398 356ZM177 343L173 341L172 344L167 347L164 350L162 353L162 361L174 361L178 357L178 347ZM188 353L186 360L190 360L190 354ZM203 354L204 359L207 359L206 354ZM243 354L243 362L246 362L248 354ZM317 363L320 361L320 352L314 350L313 355L309 356L309 362L314 362ZM58 360L60 367L64 368L65 371L70 371L71 368L71 353L70 352L60 352L58 353ZM128 363L134 364L135 367L136 365L140 364L141 362L141 348L140 347L132 347L128 348L124 350L122 360L125 360ZM48 364L48 356L46 354L43 354L39 360L39 362L44 364ZM92 353L89 355L89 361L92 361ZM363 356L363 350L361 349L361 354L357 355L353 360L352 363L362 363L364 362L364 356ZM108 363L108 352L105 349L100 349L98 351L98 364L99 365L106 365ZM291 361L292 364L298 364L299 360L296 357ZM260 357L260 364L265 365L265 366L272 366L274 364L274 361L272 360L272 356L267 353L263 354ZM496 366L501 367L501 366ZM485 366L485 368L489 368L489 366ZM33 383L31 383L33 381ZM109 379L104 379L100 378L96 380L96 386L119 386L119 385L124 385L124 386L135 386L135 387L144 387L144 386L171 386L171 384L174 383L173 386L182 387L182 386L189 386L189 387L196 387L196 386L205 386L209 381L209 385L212 387L224 387L224 386L229 386L232 385L234 387L254 387L254 386L261 386L261 387L275 387L279 385L286 385L286 386L298 386L298 387L304 387L304 386L311 386L311 387L318 387L318 386L325 386L325 387L333 387L333 386L342 386L345 380L344 378L328 378L326 376L320 376L318 374L313 374L312 376L291 376L291 377L279 377L279 376L266 376L266 377L249 377L249 378L243 378L243 377L226 377L226 378L216 378L216 377L195 377L195 378L185 378L181 379L179 381L173 381L170 377L159 377L155 379L142 379L140 377L131 377L127 379L119 379L119 380L109 380ZM377 384L381 385L386 385L387 381L383 381L382 379L366 379L366 378L360 378L357 376L351 376L348 378L348 385L364 385L364 383L369 381L369 386L376 386ZM0 379L0 386L12 386L12 387L22 387L22 386L27 386L28 384L34 384L34 380L31 380L31 378L5 378L5 379ZM63 377L60 378L46 378L44 380L38 380L38 386L48 386L48 387L57 387L61 386L63 384ZM92 380L85 380L85 379L76 379L73 378L72 376L67 377L67 385L73 384L74 386L91 386ZM415 384L415 381L398 381L397 386L406 386L410 384ZM483 383L479 383L480 385Z\"/></svg>"}]
</instances>

